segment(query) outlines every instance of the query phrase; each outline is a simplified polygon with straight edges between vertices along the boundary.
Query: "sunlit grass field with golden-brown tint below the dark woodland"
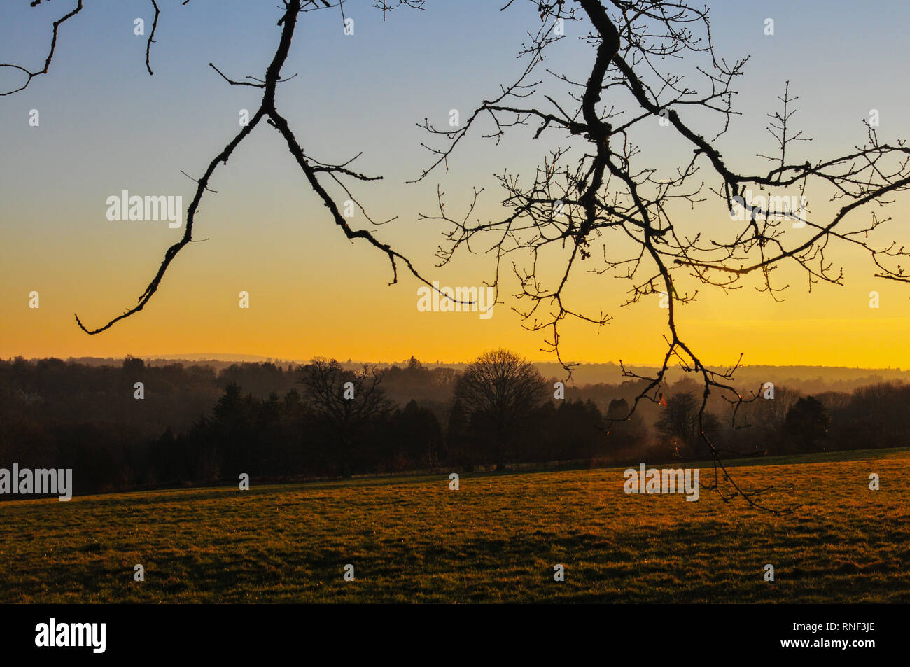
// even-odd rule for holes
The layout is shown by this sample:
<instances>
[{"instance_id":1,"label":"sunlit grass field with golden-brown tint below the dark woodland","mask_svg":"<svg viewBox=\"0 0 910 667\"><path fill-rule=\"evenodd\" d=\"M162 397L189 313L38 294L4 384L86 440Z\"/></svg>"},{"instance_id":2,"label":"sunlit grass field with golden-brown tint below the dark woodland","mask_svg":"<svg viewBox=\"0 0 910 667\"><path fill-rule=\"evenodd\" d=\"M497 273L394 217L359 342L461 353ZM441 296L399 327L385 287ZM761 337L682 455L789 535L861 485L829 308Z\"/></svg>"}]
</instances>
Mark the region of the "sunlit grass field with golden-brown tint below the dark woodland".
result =
<instances>
[{"instance_id":1,"label":"sunlit grass field with golden-brown tint below the dark woodland","mask_svg":"<svg viewBox=\"0 0 910 667\"><path fill-rule=\"evenodd\" d=\"M902 449L734 466L773 485L763 501L802 504L782 517L707 490L626 495L622 469L3 502L0 601L910 602L908 464Z\"/></svg>"}]
</instances>

